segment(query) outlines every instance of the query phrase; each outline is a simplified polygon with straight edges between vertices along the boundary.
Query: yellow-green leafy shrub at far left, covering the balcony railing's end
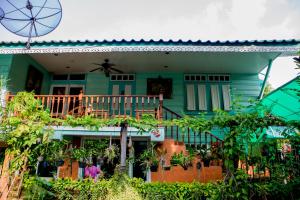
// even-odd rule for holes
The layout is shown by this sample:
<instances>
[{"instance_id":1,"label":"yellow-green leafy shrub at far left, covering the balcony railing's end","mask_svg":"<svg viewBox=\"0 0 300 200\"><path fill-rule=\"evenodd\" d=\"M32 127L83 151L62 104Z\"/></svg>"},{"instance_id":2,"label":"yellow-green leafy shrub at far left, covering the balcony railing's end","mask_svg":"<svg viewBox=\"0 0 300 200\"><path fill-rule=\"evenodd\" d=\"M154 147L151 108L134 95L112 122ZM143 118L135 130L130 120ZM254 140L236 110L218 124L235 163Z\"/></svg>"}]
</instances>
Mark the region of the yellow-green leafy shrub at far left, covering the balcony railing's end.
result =
<instances>
[{"instance_id":1,"label":"yellow-green leafy shrub at far left, covering the balcony railing's end","mask_svg":"<svg viewBox=\"0 0 300 200\"><path fill-rule=\"evenodd\" d=\"M44 111L32 93L21 92L6 107L6 115L1 118L2 139L13 156L10 170L21 169L29 162L36 166L36 151L50 144L53 134L49 125L52 118ZM39 142L40 140L40 142Z\"/></svg>"}]
</instances>

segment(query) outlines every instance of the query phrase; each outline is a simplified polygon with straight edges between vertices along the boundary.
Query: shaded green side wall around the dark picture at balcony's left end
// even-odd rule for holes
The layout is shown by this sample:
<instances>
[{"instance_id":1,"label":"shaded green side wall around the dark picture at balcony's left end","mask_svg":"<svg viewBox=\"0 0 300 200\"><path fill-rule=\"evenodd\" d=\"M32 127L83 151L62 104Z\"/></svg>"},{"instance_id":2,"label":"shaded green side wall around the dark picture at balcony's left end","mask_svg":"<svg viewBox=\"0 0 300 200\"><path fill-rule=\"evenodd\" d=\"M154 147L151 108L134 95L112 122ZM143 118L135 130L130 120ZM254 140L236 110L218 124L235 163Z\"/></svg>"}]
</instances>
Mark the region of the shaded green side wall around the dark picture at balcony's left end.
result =
<instances>
[{"instance_id":1,"label":"shaded green side wall around the dark picture at balcony's left end","mask_svg":"<svg viewBox=\"0 0 300 200\"><path fill-rule=\"evenodd\" d=\"M50 88L49 72L28 55L14 55L9 73L8 89L13 94L25 90L28 67L32 65L43 73L41 94L48 94Z\"/></svg>"}]
</instances>

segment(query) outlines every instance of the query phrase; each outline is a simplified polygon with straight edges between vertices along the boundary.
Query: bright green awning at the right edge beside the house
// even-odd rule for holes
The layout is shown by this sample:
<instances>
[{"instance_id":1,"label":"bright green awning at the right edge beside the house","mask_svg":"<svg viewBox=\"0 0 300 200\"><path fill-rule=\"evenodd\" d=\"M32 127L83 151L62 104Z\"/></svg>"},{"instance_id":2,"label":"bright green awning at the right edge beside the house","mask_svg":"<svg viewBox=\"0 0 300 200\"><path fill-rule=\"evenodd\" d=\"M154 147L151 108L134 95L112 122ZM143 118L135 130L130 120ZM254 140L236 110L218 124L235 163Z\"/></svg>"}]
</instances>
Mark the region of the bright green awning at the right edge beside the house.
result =
<instances>
[{"instance_id":1,"label":"bright green awning at the right edge beside the house","mask_svg":"<svg viewBox=\"0 0 300 200\"><path fill-rule=\"evenodd\" d=\"M300 76L274 90L261 100L275 116L300 121Z\"/></svg>"}]
</instances>

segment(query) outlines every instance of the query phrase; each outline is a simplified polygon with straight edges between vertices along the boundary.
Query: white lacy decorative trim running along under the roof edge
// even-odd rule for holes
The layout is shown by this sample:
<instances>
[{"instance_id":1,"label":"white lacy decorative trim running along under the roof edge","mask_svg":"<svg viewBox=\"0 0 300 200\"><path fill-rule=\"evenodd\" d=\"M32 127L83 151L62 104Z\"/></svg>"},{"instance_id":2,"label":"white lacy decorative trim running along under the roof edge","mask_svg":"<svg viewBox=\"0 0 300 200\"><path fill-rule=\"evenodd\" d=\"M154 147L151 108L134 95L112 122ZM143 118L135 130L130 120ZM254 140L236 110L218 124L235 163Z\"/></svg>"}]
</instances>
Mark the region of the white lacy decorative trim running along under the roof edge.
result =
<instances>
[{"instance_id":1,"label":"white lacy decorative trim running along under the roof edge","mask_svg":"<svg viewBox=\"0 0 300 200\"><path fill-rule=\"evenodd\" d=\"M25 48L0 48L0 54L31 54L31 53L75 53L75 52L298 52L300 47L291 46L82 46L82 47L32 47Z\"/></svg>"}]
</instances>

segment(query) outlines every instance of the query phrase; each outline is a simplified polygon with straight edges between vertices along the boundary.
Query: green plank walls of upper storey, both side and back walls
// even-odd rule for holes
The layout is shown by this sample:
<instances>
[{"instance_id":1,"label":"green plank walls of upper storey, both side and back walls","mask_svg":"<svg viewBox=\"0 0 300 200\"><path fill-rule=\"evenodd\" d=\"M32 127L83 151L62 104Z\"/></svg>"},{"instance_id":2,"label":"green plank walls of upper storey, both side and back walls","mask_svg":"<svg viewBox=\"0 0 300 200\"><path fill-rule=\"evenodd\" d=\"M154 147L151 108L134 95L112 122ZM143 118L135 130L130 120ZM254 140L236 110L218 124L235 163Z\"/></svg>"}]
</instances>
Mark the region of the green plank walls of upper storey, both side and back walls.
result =
<instances>
[{"instance_id":1,"label":"green plank walls of upper storey, both side and back walls","mask_svg":"<svg viewBox=\"0 0 300 200\"><path fill-rule=\"evenodd\" d=\"M1 74L9 73L8 88L16 93L25 89L28 66L33 65L44 74L42 84L42 94L49 94L51 85L78 84L84 85L85 94L110 94L110 81L103 73L87 73L85 81L52 81L49 74L43 66L34 61L28 55L0 55ZM11 67L10 67L11 65ZM4 67L3 67L4 66ZM173 82L172 99L164 99L164 106L174 112L183 114L197 114L197 112L186 112L186 86L183 79L184 73L137 73L135 76L135 88L133 92L138 95L147 94L147 78L171 78ZM232 100L241 105L248 105L249 99L256 99L260 91L260 82L257 74L231 74L231 96ZM208 96L210 90L207 90ZM210 98L208 98L210 99Z\"/></svg>"}]
</instances>

